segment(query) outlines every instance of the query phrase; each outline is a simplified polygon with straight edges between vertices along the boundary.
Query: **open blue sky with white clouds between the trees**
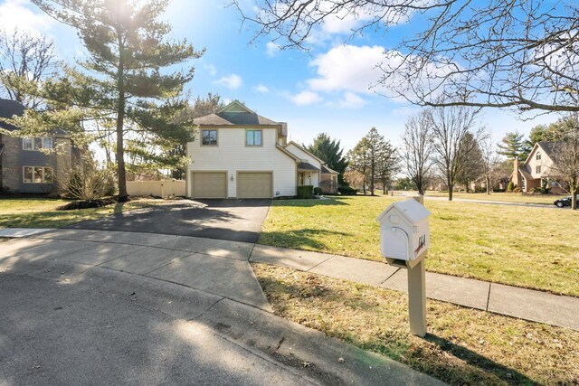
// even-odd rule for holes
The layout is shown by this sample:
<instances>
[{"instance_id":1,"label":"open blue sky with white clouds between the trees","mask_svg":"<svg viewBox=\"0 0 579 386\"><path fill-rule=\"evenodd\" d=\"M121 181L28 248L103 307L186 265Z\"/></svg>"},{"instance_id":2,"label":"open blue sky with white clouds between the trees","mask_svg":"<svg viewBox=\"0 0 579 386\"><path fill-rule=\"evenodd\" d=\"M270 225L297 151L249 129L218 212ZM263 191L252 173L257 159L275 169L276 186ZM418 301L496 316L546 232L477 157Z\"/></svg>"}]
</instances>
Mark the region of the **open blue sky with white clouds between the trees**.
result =
<instances>
[{"instance_id":1,"label":"open blue sky with white clouds between the trees","mask_svg":"<svg viewBox=\"0 0 579 386\"><path fill-rule=\"evenodd\" d=\"M252 0L244 1L251 9ZM193 99L207 92L239 99L267 118L288 122L289 138L299 143L308 144L326 132L347 150L376 127L394 145L400 144L404 122L419 108L376 95L368 87L379 77L374 67L383 47L411 33L415 24L401 24L386 34L368 33L344 44L355 25L346 17L319 28L309 52L280 51L266 38L250 43L254 26L242 25L240 14L227 3L173 0L167 8L174 37L186 38L197 49L206 48L204 56L194 61L195 79L188 85ZM53 21L28 0L0 2L0 25L51 36L64 61L84 52L70 27ZM480 123L498 142L508 131L527 135L531 127L555 119L523 121L516 113L488 109L483 110Z\"/></svg>"}]
</instances>

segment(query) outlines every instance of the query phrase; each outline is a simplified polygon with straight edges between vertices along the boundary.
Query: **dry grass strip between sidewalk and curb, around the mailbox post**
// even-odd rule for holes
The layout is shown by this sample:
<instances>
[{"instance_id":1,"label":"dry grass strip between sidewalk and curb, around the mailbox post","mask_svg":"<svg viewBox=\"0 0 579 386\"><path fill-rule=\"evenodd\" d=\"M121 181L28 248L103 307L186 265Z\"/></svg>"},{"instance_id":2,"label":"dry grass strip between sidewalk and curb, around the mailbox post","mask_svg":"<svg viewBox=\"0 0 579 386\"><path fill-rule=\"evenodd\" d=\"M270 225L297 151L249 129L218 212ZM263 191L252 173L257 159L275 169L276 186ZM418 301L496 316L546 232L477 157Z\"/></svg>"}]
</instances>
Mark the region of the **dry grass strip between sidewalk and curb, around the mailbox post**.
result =
<instances>
[{"instance_id":1,"label":"dry grass strip between sidewalk and curb, around the mailbox post","mask_svg":"<svg viewBox=\"0 0 579 386\"><path fill-rule=\"evenodd\" d=\"M424 339L404 294L253 264L276 315L451 384L577 384L579 332L428 300Z\"/></svg>"}]
</instances>

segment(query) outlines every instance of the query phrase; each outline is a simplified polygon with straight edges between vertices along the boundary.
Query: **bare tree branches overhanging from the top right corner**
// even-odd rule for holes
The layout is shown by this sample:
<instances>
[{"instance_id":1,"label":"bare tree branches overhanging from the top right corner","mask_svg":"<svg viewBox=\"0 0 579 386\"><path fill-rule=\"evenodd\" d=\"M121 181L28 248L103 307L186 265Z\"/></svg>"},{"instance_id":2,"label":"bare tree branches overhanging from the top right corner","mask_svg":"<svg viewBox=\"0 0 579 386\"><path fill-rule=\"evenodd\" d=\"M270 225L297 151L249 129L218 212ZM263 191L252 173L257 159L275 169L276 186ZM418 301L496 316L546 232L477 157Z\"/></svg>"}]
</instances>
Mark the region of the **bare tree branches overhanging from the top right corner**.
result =
<instances>
[{"instance_id":1,"label":"bare tree branches overhanging from the top right corner","mask_svg":"<svg viewBox=\"0 0 579 386\"><path fill-rule=\"evenodd\" d=\"M579 111L574 0L256 0L254 14L244 14L241 3L233 0L244 20L257 24L256 38L282 47L306 47L336 19L354 18L356 35L419 17L423 27L384 47L377 80L413 103Z\"/></svg>"}]
</instances>

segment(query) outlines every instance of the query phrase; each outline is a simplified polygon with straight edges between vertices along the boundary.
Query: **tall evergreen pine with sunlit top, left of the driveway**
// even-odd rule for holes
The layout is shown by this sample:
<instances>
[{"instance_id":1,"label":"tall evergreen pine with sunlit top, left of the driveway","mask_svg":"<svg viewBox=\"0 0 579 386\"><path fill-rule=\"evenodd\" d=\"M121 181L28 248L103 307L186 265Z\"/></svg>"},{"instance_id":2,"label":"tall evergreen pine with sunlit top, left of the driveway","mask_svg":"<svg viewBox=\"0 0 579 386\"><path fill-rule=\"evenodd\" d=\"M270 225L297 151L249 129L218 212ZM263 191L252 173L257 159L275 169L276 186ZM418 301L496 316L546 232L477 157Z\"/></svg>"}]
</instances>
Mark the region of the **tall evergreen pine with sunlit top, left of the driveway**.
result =
<instances>
[{"instance_id":1,"label":"tall evergreen pine with sunlit top, left of the driveway","mask_svg":"<svg viewBox=\"0 0 579 386\"><path fill-rule=\"evenodd\" d=\"M187 103L177 99L193 78L193 67L176 64L199 58L186 42L166 39L171 26L159 21L168 0L33 0L44 12L77 30L89 55L80 70L47 87L60 108L83 108L92 117L114 121L119 202L127 201L125 137L129 131L155 151L192 140L193 122L179 120ZM150 154L149 154L150 155Z\"/></svg>"}]
</instances>

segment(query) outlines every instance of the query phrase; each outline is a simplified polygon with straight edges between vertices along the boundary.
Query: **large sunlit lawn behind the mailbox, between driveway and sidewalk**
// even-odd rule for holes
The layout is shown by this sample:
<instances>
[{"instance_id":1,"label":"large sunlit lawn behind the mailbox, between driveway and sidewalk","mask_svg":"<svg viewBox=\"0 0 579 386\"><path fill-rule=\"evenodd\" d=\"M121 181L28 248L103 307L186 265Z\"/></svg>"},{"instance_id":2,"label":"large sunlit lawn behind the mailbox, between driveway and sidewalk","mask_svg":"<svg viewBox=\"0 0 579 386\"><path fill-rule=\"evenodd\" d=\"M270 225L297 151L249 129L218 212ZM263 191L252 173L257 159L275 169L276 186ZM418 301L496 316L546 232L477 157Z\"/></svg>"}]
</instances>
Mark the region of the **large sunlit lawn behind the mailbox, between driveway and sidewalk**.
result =
<instances>
[{"instance_id":1,"label":"large sunlit lawn behind the mailbox, between driveway and sidewalk","mask_svg":"<svg viewBox=\"0 0 579 386\"><path fill-rule=\"evenodd\" d=\"M279 200L260 243L382 260L375 218L396 197ZM579 296L579 212L426 200L432 212L426 269Z\"/></svg>"}]
</instances>

